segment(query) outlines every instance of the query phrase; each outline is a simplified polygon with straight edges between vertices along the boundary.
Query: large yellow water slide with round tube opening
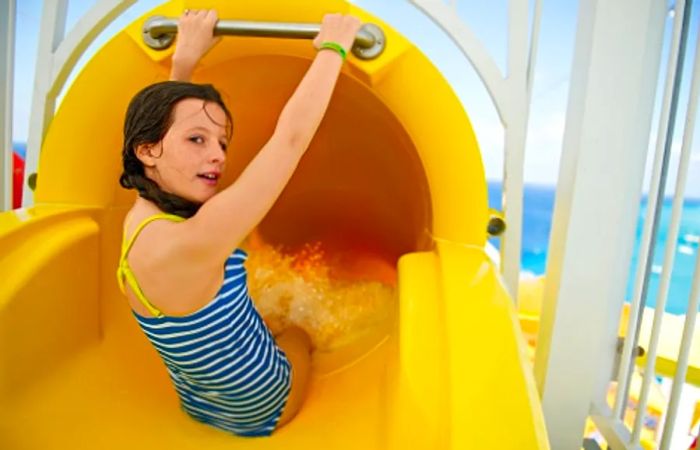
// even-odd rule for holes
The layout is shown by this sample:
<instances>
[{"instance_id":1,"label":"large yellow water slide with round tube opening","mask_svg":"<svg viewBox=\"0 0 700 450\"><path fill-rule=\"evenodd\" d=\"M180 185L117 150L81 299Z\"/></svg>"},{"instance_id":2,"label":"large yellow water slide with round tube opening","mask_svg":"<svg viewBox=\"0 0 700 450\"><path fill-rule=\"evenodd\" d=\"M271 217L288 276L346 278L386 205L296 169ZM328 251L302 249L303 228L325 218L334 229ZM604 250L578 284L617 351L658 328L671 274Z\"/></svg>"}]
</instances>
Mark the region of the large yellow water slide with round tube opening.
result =
<instances>
[{"instance_id":1,"label":"large yellow water slide with round tube opening","mask_svg":"<svg viewBox=\"0 0 700 450\"><path fill-rule=\"evenodd\" d=\"M349 58L259 232L287 248L321 240L349 266L360 254L383 262L395 277L392 314L316 352L302 411L270 438L185 416L115 279L134 200L117 182L124 113L133 94L167 78L172 51L147 48L141 26L185 7L280 22L351 12L387 37L379 58ZM195 81L222 90L234 117L226 182L271 134L313 55L309 41L230 37L205 58ZM35 206L0 215L2 449L548 448L517 315L483 251L486 182L467 115L415 46L348 3L173 1L150 12L67 91L35 194Z\"/></svg>"}]
</instances>

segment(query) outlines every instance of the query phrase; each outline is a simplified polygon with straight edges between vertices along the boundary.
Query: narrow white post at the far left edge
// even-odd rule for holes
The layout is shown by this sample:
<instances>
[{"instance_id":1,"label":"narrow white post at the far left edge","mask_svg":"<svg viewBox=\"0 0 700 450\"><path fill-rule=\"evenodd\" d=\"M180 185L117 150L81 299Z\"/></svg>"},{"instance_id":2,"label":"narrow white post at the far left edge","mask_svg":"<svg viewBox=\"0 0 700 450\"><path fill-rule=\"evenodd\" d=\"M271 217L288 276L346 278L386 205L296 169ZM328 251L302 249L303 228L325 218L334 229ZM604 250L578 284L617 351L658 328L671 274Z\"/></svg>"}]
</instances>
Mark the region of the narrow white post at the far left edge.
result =
<instances>
[{"instance_id":1,"label":"narrow white post at the far left edge","mask_svg":"<svg viewBox=\"0 0 700 450\"><path fill-rule=\"evenodd\" d=\"M15 0L0 2L0 211L12 209L12 97Z\"/></svg>"}]
</instances>

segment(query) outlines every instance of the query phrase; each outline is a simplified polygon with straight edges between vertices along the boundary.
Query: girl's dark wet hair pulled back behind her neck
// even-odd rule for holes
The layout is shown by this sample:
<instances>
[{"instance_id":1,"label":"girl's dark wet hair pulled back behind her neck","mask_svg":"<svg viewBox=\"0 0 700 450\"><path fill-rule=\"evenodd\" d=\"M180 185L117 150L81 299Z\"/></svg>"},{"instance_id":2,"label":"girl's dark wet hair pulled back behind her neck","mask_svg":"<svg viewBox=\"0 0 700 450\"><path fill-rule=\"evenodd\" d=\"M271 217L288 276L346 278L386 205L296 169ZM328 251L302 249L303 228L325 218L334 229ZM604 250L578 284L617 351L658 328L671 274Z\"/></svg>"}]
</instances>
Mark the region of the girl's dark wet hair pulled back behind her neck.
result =
<instances>
[{"instance_id":1,"label":"girl's dark wet hair pulled back behind her neck","mask_svg":"<svg viewBox=\"0 0 700 450\"><path fill-rule=\"evenodd\" d=\"M233 123L231 113L214 86L182 81L152 84L131 99L126 111L122 148L124 172L119 177L122 187L136 189L141 197L152 201L162 211L185 218L192 217L202 204L163 191L146 176L144 165L136 156L136 148L142 144L160 142L173 123L175 105L187 98L202 99L205 113L207 103L219 105L226 114L226 131L230 137Z\"/></svg>"}]
</instances>

